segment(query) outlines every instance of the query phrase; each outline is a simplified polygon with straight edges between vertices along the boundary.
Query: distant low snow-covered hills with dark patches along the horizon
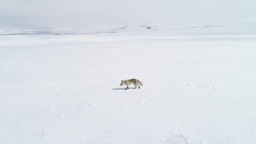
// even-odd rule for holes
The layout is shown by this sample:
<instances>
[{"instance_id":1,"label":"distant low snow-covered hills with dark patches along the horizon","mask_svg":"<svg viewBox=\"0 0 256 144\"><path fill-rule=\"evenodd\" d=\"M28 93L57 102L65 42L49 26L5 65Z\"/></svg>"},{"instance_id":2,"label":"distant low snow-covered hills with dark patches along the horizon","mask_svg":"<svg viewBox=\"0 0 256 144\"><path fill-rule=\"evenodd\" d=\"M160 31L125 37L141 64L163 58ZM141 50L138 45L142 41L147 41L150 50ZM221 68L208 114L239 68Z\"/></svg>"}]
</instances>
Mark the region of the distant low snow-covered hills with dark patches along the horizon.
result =
<instances>
[{"instance_id":1,"label":"distant low snow-covered hills with dark patches along the horizon","mask_svg":"<svg viewBox=\"0 0 256 144\"><path fill-rule=\"evenodd\" d=\"M141 25L98 29L57 29L57 30L2 30L0 35L67 35L94 33L256 33L256 24L190 24L190 25Z\"/></svg>"}]
</instances>

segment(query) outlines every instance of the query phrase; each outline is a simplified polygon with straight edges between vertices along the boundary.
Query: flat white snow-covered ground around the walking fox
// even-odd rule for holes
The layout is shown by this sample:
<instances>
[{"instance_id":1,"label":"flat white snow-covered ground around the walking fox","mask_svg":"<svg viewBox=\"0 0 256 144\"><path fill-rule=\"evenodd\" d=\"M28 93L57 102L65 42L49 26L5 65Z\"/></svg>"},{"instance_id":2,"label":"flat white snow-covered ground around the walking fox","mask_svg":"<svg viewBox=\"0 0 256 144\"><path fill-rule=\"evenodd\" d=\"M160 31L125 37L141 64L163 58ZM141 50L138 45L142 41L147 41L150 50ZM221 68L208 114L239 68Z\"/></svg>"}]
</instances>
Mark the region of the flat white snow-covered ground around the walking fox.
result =
<instances>
[{"instance_id":1,"label":"flat white snow-covered ground around the walking fox","mask_svg":"<svg viewBox=\"0 0 256 144\"><path fill-rule=\"evenodd\" d=\"M255 33L155 31L0 36L0 143L256 144Z\"/></svg>"}]
</instances>

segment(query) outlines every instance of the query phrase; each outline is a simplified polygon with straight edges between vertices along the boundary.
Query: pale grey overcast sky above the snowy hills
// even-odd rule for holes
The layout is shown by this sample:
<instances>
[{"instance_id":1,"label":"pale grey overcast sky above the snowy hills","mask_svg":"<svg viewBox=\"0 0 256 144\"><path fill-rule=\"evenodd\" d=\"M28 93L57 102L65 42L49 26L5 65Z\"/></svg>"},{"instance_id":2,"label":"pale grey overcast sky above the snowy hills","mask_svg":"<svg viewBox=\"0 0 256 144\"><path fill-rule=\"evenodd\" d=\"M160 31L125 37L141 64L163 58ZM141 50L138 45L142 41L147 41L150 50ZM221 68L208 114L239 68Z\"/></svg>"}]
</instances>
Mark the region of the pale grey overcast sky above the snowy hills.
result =
<instances>
[{"instance_id":1,"label":"pale grey overcast sky above the snowy hills","mask_svg":"<svg viewBox=\"0 0 256 144\"><path fill-rule=\"evenodd\" d=\"M256 0L0 0L0 30L255 21Z\"/></svg>"}]
</instances>

